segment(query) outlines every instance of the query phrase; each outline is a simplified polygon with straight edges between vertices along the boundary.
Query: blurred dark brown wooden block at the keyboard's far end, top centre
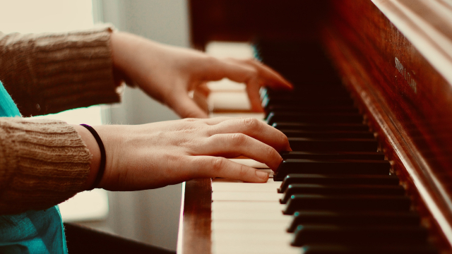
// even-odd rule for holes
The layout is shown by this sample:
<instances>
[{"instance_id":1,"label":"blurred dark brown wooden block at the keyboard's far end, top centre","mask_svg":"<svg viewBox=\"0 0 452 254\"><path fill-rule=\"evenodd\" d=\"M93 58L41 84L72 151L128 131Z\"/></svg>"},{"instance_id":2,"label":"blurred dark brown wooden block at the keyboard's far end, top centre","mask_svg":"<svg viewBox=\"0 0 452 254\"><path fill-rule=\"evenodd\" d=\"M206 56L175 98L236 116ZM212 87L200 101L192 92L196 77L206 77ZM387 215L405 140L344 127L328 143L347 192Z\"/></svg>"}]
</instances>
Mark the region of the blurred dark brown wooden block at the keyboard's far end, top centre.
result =
<instances>
[{"instance_id":1,"label":"blurred dark brown wooden block at the keyboard's far end, top centre","mask_svg":"<svg viewBox=\"0 0 452 254\"><path fill-rule=\"evenodd\" d=\"M328 8L325 0L190 0L191 42L256 39L315 40Z\"/></svg>"}]
</instances>

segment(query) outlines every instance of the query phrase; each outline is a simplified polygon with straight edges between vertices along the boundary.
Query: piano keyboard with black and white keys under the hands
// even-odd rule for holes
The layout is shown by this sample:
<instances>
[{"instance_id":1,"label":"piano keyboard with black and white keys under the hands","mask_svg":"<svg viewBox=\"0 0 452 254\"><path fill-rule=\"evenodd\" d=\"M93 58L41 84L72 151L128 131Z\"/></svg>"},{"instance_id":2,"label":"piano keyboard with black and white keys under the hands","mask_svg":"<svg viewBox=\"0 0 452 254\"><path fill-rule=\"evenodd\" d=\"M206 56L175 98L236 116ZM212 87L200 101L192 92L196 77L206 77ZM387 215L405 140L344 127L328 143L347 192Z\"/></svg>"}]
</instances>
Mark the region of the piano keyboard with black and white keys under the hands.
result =
<instances>
[{"instance_id":1,"label":"piano keyboard with black and white keys under the hands","mask_svg":"<svg viewBox=\"0 0 452 254\"><path fill-rule=\"evenodd\" d=\"M301 83L301 56L260 52ZM293 152L267 183L213 179L212 253L437 253L345 88L319 80L262 92L267 123Z\"/></svg>"}]
</instances>

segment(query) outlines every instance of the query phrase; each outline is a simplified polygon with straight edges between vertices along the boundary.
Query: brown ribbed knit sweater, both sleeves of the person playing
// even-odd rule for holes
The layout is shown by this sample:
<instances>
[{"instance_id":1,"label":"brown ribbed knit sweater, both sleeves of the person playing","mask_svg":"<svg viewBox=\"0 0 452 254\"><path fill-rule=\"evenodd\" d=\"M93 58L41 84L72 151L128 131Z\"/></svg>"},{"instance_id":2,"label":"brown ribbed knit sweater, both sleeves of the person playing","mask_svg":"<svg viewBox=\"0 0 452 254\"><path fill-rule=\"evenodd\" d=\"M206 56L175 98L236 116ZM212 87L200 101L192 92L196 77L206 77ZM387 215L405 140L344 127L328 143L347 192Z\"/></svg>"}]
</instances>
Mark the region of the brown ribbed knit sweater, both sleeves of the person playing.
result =
<instances>
[{"instance_id":1,"label":"brown ribbed knit sweater, both sleeves of the person playing","mask_svg":"<svg viewBox=\"0 0 452 254\"><path fill-rule=\"evenodd\" d=\"M119 102L111 32L0 33L0 80L20 113ZM0 117L0 214L46 209L83 191L91 156L62 121Z\"/></svg>"}]
</instances>

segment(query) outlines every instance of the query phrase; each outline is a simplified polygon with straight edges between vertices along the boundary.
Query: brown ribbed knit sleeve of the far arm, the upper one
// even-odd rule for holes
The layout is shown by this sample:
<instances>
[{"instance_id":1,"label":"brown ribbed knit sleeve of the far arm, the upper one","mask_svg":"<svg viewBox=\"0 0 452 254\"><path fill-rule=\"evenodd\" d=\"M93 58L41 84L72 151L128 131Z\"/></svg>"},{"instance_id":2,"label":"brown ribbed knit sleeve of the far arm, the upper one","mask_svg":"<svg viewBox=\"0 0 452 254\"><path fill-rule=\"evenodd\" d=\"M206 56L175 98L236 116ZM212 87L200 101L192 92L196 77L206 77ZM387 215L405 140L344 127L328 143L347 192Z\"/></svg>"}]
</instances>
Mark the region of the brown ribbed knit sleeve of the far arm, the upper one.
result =
<instances>
[{"instance_id":1,"label":"brown ribbed knit sleeve of the far arm, the upper one","mask_svg":"<svg viewBox=\"0 0 452 254\"><path fill-rule=\"evenodd\" d=\"M0 33L0 80L23 116L119 102L112 28L37 35Z\"/></svg>"}]
</instances>

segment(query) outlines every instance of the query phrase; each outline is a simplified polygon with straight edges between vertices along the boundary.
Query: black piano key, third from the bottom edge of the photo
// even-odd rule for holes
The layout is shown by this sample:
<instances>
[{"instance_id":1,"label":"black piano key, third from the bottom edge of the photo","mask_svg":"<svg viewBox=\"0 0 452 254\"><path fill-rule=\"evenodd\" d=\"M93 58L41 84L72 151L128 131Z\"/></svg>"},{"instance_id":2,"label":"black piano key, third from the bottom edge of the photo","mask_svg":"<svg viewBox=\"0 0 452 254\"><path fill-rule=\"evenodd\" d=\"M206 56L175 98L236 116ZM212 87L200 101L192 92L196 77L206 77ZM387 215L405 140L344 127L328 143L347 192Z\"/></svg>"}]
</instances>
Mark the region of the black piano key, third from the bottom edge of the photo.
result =
<instances>
[{"instance_id":1,"label":"black piano key, third from the bottom edge of the photo","mask_svg":"<svg viewBox=\"0 0 452 254\"><path fill-rule=\"evenodd\" d=\"M293 233L299 225L394 225L418 226L419 214L415 212L331 212L331 211L299 211L295 212L287 232Z\"/></svg>"}]
</instances>

